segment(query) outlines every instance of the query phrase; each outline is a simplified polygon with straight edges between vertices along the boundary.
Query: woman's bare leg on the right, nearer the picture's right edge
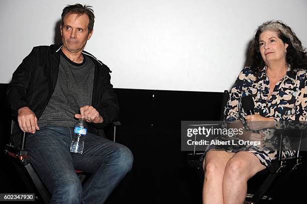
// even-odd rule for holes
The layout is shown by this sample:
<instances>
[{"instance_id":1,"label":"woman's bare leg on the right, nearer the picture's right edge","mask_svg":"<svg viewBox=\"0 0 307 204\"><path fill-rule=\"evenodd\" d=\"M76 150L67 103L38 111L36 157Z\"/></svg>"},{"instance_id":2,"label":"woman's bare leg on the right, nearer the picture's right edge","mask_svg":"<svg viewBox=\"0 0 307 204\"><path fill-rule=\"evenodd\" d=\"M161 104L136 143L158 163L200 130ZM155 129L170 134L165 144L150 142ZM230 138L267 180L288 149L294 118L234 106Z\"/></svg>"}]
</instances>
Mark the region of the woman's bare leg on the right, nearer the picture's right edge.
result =
<instances>
[{"instance_id":1,"label":"woman's bare leg on the right, nearer the picture's right edge","mask_svg":"<svg viewBox=\"0 0 307 204\"><path fill-rule=\"evenodd\" d=\"M235 153L229 159L224 172L224 203L243 203L247 192L247 180L265 168L253 153L248 151Z\"/></svg>"}]
</instances>

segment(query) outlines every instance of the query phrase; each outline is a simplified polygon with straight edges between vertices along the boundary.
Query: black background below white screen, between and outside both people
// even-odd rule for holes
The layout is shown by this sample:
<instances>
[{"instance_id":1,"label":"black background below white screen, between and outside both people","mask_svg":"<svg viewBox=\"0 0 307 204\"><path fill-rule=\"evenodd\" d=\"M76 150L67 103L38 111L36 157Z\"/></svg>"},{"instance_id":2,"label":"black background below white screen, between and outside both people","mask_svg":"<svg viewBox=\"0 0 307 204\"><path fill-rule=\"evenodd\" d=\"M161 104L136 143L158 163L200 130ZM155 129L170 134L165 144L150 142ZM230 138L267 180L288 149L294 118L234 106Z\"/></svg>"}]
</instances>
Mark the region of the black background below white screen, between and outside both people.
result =
<instances>
[{"instance_id":1,"label":"black background below white screen, between and outside both people","mask_svg":"<svg viewBox=\"0 0 307 204\"><path fill-rule=\"evenodd\" d=\"M0 84L0 193L28 192L12 162L4 154L9 142L10 112L5 105L7 84ZM121 126L116 141L130 148L132 170L107 200L110 203L201 203L201 181L181 151L181 121L219 120L222 93L115 89L120 104ZM304 152L303 152L304 154ZM306 166L287 183L276 186L270 203L294 203L306 199ZM258 178L249 182L249 189ZM12 202L9 202L12 203ZM34 202L31 202L34 203Z\"/></svg>"}]
</instances>

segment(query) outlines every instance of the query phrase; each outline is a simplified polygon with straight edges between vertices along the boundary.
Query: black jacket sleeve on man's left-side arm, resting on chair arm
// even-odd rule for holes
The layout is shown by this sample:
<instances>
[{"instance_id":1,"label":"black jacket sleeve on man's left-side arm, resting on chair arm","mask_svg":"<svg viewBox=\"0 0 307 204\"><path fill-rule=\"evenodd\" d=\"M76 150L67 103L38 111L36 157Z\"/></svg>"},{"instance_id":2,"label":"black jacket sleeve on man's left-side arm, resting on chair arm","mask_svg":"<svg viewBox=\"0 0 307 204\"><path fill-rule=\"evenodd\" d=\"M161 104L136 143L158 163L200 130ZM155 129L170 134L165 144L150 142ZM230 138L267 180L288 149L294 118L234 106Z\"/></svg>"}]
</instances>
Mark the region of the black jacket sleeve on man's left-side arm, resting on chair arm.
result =
<instances>
[{"instance_id":1,"label":"black jacket sleeve on man's left-side arm, resting on chair arm","mask_svg":"<svg viewBox=\"0 0 307 204\"><path fill-rule=\"evenodd\" d=\"M18 110L30 104L27 100L29 84L32 76L33 66L35 64L35 48L23 60L13 73L12 81L7 89L7 102L12 110L13 118L17 118Z\"/></svg>"}]
</instances>

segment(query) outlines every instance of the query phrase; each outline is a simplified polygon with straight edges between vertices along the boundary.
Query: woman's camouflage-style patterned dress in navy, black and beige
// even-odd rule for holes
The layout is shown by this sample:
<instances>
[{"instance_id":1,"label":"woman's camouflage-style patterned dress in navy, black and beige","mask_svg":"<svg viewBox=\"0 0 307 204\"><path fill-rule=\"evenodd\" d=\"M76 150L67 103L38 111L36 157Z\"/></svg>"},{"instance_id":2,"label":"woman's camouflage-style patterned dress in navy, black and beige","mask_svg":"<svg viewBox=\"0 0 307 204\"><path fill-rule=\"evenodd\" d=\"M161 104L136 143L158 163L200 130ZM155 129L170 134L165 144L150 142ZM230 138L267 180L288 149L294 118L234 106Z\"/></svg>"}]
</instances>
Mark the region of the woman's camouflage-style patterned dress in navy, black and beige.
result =
<instances>
[{"instance_id":1,"label":"woman's camouflage-style patterned dress in navy, black and beige","mask_svg":"<svg viewBox=\"0 0 307 204\"><path fill-rule=\"evenodd\" d=\"M307 120L306 71L298 70L293 75L288 68L286 75L275 85L270 97L268 97L269 79L266 75L266 69L263 68L257 75L253 73L250 67L245 67L239 74L226 104L224 119L226 121L241 120L244 124L246 113L242 108L241 98L252 95L255 113L259 113L263 117L273 117L276 121L276 128L288 128L288 126L292 127L293 125L303 128ZM269 166L271 160L277 156L275 151L277 138L274 137L274 131L274 128L259 130L259 133L264 135L265 147L262 150L250 146L246 148L231 147L226 151L248 150L256 155L263 165ZM288 137L283 139L283 145L282 157L293 156L295 151L292 150Z\"/></svg>"}]
</instances>

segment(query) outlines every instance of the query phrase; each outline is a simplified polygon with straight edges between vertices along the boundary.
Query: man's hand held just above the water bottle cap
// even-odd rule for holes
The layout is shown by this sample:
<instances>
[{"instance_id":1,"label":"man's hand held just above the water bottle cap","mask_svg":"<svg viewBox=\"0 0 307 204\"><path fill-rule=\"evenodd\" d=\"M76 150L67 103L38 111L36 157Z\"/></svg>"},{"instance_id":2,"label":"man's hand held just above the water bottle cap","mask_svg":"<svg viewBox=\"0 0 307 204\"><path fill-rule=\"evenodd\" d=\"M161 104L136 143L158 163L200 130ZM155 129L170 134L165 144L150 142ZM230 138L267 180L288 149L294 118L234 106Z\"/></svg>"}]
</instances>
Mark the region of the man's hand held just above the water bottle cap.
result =
<instances>
[{"instance_id":1,"label":"man's hand held just above the water bottle cap","mask_svg":"<svg viewBox=\"0 0 307 204\"><path fill-rule=\"evenodd\" d=\"M75 114L75 118L83 118L87 122L103 123L103 118L93 106L82 106L80 114Z\"/></svg>"}]
</instances>

